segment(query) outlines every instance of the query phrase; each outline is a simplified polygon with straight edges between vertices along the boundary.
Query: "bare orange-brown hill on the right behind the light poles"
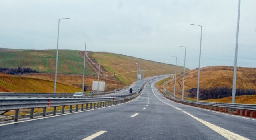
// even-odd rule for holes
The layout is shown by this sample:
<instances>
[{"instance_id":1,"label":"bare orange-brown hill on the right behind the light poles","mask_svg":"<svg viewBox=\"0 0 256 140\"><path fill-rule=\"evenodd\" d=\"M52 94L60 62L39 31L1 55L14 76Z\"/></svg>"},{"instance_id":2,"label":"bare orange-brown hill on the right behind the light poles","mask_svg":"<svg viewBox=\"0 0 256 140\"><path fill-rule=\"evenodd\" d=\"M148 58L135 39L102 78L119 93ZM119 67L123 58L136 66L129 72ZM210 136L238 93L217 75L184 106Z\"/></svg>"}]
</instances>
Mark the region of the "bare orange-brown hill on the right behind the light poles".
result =
<instances>
[{"instance_id":1,"label":"bare orange-brown hill on the right behind the light poles","mask_svg":"<svg viewBox=\"0 0 256 140\"><path fill-rule=\"evenodd\" d=\"M168 82L172 78L168 79ZM188 90L197 88L198 69L188 70L185 75L184 95L188 98ZM181 97L183 73L177 75L176 93ZM167 82L167 81L166 81ZM166 82L163 82L166 83ZM162 85L159 88L163 88ZM200 89L211 87L228 87L232 88L233 84L233 67L230 66L209 66L201 68L200 71ZM168 91L174 91L174 81L166 84ZM236 88L240 89L256 89L256 68L237 68ZM228 98L229 99L229 98ZM230 100L231 101L231 100Z\"/></svg>"}]
</instances>

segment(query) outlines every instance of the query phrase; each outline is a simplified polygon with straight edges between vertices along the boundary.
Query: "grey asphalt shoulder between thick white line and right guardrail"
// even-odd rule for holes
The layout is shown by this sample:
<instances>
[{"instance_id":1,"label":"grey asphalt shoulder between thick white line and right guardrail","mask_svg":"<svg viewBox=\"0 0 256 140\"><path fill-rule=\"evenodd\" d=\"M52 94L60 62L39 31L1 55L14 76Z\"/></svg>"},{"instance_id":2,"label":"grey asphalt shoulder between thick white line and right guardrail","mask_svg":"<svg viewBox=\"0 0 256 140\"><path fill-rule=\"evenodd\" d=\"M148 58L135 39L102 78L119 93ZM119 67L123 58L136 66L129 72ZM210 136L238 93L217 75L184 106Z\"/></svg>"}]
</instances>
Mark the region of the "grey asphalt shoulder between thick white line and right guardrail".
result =
<instances>
[{"instance_id":1,"label":"grey asphalt shoulder between thick white line and right guardrail","mask_svg":"<svg viewBox=\"0 0 256 140\"><path fill-rule=\"evenodd\" d=\"M227 113L220 113L218 111L192 107L189 105L183 105L181 103L176 103L174 101L166 99L160 93L158 93L155 88L153 89L153 91L160 101L170 105L171 107L174 107L178 110L180 109L186 111L187 113L195 117L214 124L220 128L224 128L226 130L234 132L235 134L244 136L252 140L256 139L256 119L241 117L238 115L230 115ZM241 138L238 138L238 140L240 139Z\"/></svg>"}]
</instances>

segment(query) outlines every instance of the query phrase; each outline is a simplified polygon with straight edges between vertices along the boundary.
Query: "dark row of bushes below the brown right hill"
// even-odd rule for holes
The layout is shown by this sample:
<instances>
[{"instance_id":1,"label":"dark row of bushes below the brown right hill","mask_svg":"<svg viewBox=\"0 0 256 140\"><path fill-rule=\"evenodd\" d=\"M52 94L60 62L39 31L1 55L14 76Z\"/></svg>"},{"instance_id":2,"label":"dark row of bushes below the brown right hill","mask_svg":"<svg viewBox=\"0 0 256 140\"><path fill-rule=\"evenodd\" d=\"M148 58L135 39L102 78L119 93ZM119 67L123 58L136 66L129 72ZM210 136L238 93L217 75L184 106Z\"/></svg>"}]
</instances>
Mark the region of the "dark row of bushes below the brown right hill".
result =
<instances>
[{"instance_id":1,"label":"dark row of bushes below the brown right hill","mask_svg":"<svg viewBox=\"0 0 256 140\"><path fill-rule=\"evenodd\" d=\"M192 88L188 90L189 92L189 97L196 97L196 91L197 88ZM256 90L254 89L236 89L236 96L241 96L241 95L255 95ZM224 98L232 96L232 88L228 87L212 87L212 88L207 88L207 89L199 89L199 98L203 100L207 99L219 99L219 98Z\"/></svg>"}]
</instances>

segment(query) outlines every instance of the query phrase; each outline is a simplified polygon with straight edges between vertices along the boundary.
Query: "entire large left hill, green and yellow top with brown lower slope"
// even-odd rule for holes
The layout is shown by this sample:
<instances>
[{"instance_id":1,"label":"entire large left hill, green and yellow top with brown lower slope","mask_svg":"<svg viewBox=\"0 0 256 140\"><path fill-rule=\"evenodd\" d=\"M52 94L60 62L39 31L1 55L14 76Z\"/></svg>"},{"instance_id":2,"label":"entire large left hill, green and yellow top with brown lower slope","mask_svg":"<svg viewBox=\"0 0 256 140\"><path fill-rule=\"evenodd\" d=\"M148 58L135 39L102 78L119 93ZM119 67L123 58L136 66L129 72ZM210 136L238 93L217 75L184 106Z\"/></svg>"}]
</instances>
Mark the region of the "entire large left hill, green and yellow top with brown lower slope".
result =
<instances>
[{"instance_id":1,"label":"entire large left hill, green and yellow top with brown lower slope","mask_svg":"<svg viewBox=\"0 0 256 140\"><path fill-rule=\"evenodd\" d=\"M88 87L88 90L91 90L92 81L97 80L99 53L89 52L87 56L89 59L86 58L85 85ZM140 68L146 70L146 77L174 73L175 66L171 64L163 64L121 54L103 52L101 55L100 81L106 82L106 91L124 88L127 84L136 81L137 61L134 59L139 60ZM0 48L0 67L28 67L39 72L34 74L19 74L16 76L0 76L0 92L53 92L52 86L49 85L54 82L55 62L56 50ZM59 50L57 76L58 93L80 91L82 87L83 64L84 51ZM183 67L177 67L178 72L182 72L182 70ZM21 81L21 83L26 83L26 80L29 81L27 83L33 83L32 81L35 81L33 84L24 86L29 87L29 85L31 85L33 86L32 88L22 88L22 84L16 84L19 83L19 81ZM3 84L3 82L5 82L5 84ZM48 86L40 83L48 83ZM74 90L70 91L69 89L62 88L59 83L71 86ZM18 87L15 87L15 85ZM44 89L43 87L46 87L47 89L42 91L41 89ZM66 90L58 90L59 88Z\"/></svg>"}]
</instances>

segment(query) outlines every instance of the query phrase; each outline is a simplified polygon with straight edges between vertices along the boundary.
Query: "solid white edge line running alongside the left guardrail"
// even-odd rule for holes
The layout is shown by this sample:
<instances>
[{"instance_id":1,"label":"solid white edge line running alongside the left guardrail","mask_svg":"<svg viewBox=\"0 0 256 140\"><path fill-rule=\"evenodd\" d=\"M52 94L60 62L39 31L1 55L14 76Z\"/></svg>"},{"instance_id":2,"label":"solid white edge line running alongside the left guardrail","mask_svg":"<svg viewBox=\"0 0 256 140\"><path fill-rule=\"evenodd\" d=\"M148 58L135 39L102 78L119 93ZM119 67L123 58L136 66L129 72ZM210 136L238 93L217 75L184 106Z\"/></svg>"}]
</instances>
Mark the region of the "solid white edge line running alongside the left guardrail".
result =
<instances>
[{"instance_id":1,"label":"solid white edge line running alongside the left guardrail","mask_svg":"<svg viewBox=\"0 0 256 140\"><path fill-rule=\"evenodd\" d=\"M143 93L144 89L142 90ZM142 93L138 96L140 97L142 95ZM131 101L135 101L136 99L131 100ZM125 103L129 103L131 101L125 102ZM120 104L116 104L116 105L122 105L125 103L120 103ZM148 103L149 104L149 103ZM107 107L114 107L116 105L111 105L111 106L107 106ZM47 117L40 117L40 118L36 118L36 119L29 119L29 120L24 120L24 121L18 121L18 122L10 122L10 123L5 123L5 124L0 124L0 126L6 126L6 125L10 125L10 124L17 124L17 123L21 123L21 122L29 122L29 121L36 121L36 120L40 120L40 119L47 119L47 118L52 118L52 117L59 117L59 116L63 116L63 115L70 115L70 114L75 114L75 113L82 113L82 112L86 112L86 111L93 111L93 110L97 110L97 109L103 109L103 108L107 108L107 107L100 107L100 108L96 108L96 109L89 109L89 110L84 110L84 111L77 111L77 112L72 112L72 113L65 113L65 114L58 114L58 115L54 115L54 116L47 116Z\"/></svg>"}]
</instances>

